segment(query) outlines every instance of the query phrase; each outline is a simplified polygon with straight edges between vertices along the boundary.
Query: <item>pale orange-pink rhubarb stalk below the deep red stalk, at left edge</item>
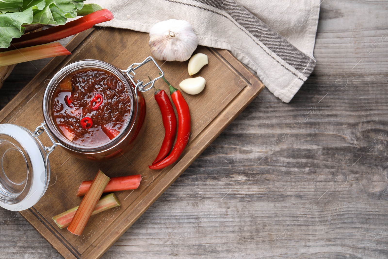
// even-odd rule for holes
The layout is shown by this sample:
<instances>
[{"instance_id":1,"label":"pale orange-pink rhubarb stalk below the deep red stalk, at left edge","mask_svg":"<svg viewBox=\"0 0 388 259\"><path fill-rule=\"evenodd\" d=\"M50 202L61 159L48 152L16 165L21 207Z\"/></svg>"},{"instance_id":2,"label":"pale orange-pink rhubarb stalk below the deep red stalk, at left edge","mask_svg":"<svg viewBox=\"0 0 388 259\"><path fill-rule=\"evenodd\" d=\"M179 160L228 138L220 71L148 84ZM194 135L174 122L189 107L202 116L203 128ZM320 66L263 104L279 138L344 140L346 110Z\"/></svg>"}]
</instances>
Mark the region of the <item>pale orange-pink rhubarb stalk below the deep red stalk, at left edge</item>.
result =
<instances>
[{"instance_id":1,"label":"pale orange-pink rhubarb stalk below the deep red stalk, at left edge","mask_svg":"<svg viewBox=\"0 0 388 259\"><path fill-rule=\"evenodd\" d=\"M26 61L64 55L71 55L71 52L63 47L61 43L48 43L33 47L0 52L0 66L9 66Z\"/></svg>"}]
</instances>

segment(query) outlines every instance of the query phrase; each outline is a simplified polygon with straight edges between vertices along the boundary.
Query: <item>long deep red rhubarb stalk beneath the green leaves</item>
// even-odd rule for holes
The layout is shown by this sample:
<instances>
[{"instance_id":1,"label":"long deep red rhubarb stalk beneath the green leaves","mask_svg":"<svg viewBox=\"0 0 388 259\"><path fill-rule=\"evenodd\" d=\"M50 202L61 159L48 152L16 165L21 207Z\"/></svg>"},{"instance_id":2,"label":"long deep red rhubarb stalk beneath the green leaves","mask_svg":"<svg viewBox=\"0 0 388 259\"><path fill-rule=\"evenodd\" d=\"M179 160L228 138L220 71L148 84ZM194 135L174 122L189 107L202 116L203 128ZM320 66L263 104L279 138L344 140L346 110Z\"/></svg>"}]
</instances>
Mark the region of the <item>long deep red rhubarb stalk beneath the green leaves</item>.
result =
<instances>
[{"instance_id":1,"label":"long deep red rhubarb stalk beneath the green leaves","mask_svg":"<svg viewBox=\"0 0 388 259\"><path fill-rule=\"evenodd\" d=\"M111 11L102 9L82 16L64 25L59 25L46 30L22 35L20 38L12 40L11 47L19 49L48 42L55 42L81 31L90 29L97 23L110 21L113 18L114 16Z\"/></svg>"}]
</instances>

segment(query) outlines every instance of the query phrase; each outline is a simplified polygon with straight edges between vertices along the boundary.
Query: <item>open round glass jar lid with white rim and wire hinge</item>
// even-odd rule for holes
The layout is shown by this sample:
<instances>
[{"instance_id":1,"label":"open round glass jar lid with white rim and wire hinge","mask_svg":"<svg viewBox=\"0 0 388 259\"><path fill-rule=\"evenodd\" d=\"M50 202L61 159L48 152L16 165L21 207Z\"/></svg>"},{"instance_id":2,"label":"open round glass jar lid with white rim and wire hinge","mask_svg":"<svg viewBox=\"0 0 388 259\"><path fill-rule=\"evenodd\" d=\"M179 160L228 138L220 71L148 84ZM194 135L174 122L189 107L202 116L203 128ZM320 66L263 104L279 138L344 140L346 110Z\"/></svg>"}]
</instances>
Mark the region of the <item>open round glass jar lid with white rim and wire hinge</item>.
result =
<instances>
[{"instance_id":1,"label":"open round glass jar lid with white rim and wire hinge","mask_svg":"<svg viewBox=\"0 0 388 259\"><path fill-rule=\"evenodd\" d=\"M14 124L0 124L0 206L13 211L25 210L43 196L50 180L49 153L38 136Z\"/></svg>"}]
</instances>

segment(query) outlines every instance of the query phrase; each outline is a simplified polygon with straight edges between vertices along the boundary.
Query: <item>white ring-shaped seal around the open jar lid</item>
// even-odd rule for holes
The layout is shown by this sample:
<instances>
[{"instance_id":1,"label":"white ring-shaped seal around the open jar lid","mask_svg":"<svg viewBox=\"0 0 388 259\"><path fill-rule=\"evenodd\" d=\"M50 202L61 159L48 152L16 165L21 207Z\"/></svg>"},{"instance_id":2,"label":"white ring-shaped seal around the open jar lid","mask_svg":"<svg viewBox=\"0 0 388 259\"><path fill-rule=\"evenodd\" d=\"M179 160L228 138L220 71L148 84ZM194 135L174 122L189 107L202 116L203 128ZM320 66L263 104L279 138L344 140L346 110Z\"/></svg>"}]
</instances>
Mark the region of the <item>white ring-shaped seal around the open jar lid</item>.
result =
<instances>
[{"instance_id":1,"label":"white ring-shaped seal around the open jar lid","mask_svg":"<svg viewBox=\"0 0 388 259\"><path fill-rule=\"evenodd\" d=\"M32 184L27 196L20 202L13 204L6 204L0 201L0 206L13 211L26 210L35 205L45 191L45 182L42 181L42 175L46 176L47 169L42 150L39 148L36 139L24 130L24 128L17 125L8 123L0 124L0 134L6 134L16 139L26 151L32 165Z\"/></svg>"}]
</instances>

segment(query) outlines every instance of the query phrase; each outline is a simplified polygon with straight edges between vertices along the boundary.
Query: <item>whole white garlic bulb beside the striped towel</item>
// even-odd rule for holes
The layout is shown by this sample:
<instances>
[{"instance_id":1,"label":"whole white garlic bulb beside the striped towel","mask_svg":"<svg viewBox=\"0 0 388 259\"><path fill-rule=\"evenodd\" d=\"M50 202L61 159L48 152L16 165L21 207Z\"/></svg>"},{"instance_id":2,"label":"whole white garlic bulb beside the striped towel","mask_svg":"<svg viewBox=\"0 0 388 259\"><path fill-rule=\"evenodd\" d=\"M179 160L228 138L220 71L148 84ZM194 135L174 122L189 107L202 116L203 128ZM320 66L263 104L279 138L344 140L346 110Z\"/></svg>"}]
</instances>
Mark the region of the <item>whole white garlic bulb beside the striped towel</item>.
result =
<instances>
[{"instance_id":1,"label":"whole white garlic bulb beside the striped towel","mask_svg":"<svg viewBox=\"0 0 388 259\"><path fill-rule=\"evenodd\" d=\"M198 41L191 24L184 20L170 19L152 26L149 46L159 60L186 61L197 48Z\"/></svg>"}]
</instances>

